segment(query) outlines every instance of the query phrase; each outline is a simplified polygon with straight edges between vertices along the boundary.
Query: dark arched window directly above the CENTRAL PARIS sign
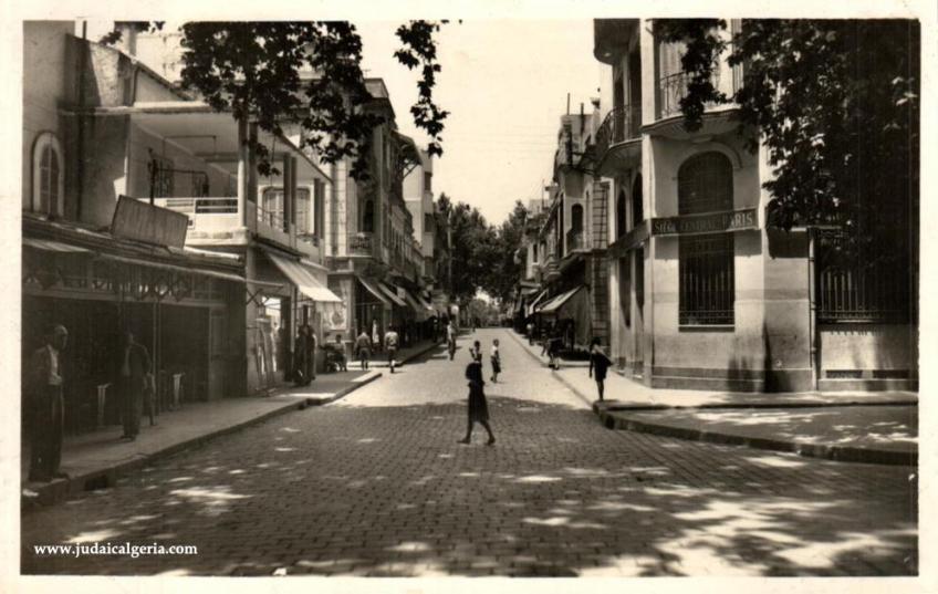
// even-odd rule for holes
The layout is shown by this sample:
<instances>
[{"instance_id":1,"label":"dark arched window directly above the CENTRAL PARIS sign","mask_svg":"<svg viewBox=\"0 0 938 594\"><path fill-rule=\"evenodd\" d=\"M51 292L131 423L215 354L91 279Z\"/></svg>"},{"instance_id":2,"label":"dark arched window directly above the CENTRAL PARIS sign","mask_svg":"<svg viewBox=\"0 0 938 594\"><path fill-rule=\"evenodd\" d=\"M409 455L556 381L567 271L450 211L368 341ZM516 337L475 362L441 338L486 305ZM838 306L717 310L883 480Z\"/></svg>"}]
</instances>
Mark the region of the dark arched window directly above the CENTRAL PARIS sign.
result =
<instances>
[{"instance_id":1,"label":"dark arched window directly above the CENTRAL PARIS sign","mask_svg":"<svg viewBox=\"0 0 938 594\"><path fill-rule=\"evenodd\" d=\"M677 173L678 215L732 210L732 164L722 153L695 155Z\"/></svg>"}]
</instances>

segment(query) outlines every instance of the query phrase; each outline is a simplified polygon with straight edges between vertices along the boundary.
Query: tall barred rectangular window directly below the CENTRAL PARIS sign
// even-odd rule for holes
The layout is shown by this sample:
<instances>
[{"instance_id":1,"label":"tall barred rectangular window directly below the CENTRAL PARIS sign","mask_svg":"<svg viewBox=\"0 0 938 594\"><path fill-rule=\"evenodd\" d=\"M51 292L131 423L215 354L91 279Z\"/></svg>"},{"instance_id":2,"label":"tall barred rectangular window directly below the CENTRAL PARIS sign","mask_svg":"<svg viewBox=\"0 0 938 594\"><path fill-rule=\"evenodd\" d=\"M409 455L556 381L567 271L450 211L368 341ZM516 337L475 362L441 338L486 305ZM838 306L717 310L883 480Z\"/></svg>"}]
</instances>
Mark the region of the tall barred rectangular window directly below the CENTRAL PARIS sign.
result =
<instances>
[{"instance_id":1,"label":"tall barred rectangular window directly below the CENTRAL PARIS sign","mask_svg":"<svg viewBox=\"0 0 938 594\"><path fill-rule=\"evenodd\" d=\"M733 236L678 239L680 325L732 325Z\"/></svg>"}]
</instances>

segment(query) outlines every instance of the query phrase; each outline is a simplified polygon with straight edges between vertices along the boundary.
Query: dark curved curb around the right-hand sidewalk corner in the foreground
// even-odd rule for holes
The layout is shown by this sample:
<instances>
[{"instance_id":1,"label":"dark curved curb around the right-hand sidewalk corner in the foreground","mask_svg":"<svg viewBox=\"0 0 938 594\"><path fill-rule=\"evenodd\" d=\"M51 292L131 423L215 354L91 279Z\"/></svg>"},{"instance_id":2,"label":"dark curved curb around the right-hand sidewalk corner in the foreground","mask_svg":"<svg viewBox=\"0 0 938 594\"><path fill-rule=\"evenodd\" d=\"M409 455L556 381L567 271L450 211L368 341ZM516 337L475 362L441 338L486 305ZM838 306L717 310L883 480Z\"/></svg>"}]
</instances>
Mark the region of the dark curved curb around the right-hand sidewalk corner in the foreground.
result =
<instances>
[{"instance_id":1,"label":"dark curved curb around the right-hand sidewalk corner in the foreground","mask_svg":"<svg viewBox=\"0 0 938 594\"><path fill-rule=\"evenodd\" d=\"M747 437L741 435L706 431L690 427L676 427L674 425L636 420L622 414L600 411L595 406L593 407L593 410L600 417L603 426L607 429L637 431L663 437L674 437L691 441L706 441L709 444L720 444L726 446L747 446L753 449L784 451L798 454L799 456L807 458L822 458L838 462L862 462L894 466L916 466L918 463L918 452L916 451L879 450L851 446L809 444L804 441L784 441L781 439L765 437Z\"/></svg>"}]
</instances>

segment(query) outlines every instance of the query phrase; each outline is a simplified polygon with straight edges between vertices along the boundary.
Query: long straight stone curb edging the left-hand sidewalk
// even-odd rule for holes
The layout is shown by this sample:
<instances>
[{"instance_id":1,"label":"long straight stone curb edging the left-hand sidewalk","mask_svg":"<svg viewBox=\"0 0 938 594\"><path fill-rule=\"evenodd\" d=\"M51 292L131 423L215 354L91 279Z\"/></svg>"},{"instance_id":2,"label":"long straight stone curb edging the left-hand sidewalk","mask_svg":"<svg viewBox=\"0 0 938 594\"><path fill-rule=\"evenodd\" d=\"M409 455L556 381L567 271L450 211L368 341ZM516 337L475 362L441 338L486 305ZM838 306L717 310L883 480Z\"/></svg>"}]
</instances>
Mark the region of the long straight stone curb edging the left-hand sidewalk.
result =
<instances>
[{"instance_id":1,"label":"long straight stone curb edging the left-hand sidewalk","mask_svg":"<svg viewBox=\"0 0 938 594\"><path fill-rule=\"evenodd\" d=\"M280 415L285 415L286 413L291 413L293 410L303 410L310 406L319 406L327 403L335 402L352 392L361 388L362 386L366 386L371 384L375 379L382 376L381 372L374 372L373 375L365 377L361 382L355 382L344 388L340 389L332 396L327 398L303 398L298 402L285 403L283 406L274 408L272 410L268 410L267 413L262 413L256 417L251 417L249 419L244 419L242 421L236 423L228 427L222 427L220 429L216 429L213 431L202 434L190 439L186 439L184 441L179 441L178 444L173 444L171 446L167 446L160 450L140 455L134 459L117 462L108 468L101 470L92 470L88 472L71 476L67 479L56 479L49 483L43 484L37 489L30 488L31 491L35 492L35 497L23 497L22 490L20 488L20 500L21 512L33 511L37 509L42 509L46 507L54 506L56 503L61 503L76 494L97 490L97 489L106 489L116 482L117 478L133 472L135 470L139 470L140 468L146 467L147 465L154 462L155 460L166 458L173 456L175 454L179 454L180 451L197 448L206 445L217 437L221 437L228 434L232 434L234 431L244 429L252 425L257 425L269 420L273 417L278 417Z\"/></svg>"}]
</instances>

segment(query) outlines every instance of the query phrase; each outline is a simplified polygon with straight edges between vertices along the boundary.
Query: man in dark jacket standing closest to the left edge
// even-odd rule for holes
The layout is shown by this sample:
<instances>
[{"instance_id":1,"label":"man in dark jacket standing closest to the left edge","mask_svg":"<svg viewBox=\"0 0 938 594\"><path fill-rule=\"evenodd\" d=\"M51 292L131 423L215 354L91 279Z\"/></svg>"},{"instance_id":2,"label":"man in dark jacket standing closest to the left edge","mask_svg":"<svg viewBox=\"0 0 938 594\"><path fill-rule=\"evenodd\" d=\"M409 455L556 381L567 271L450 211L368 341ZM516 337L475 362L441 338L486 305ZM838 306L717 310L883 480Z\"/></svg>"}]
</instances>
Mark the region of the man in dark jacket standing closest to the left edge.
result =
<instances>
[{"instance_id":1,"label":"man in dark jacket standing closest to the left edge","mask_svg":"<svg viewBox=\"0 0 938 594\"><path fill-rule=\"evenodd\" d=\"M58 325L45 337L45 345L30 358L28 394L30 416L29 480L49 482L66 478L59 471L62 461L62 434L65 425L65 402L62 396L60 357L69 343L69 331Z\"/></svg>"}]
</instances>

